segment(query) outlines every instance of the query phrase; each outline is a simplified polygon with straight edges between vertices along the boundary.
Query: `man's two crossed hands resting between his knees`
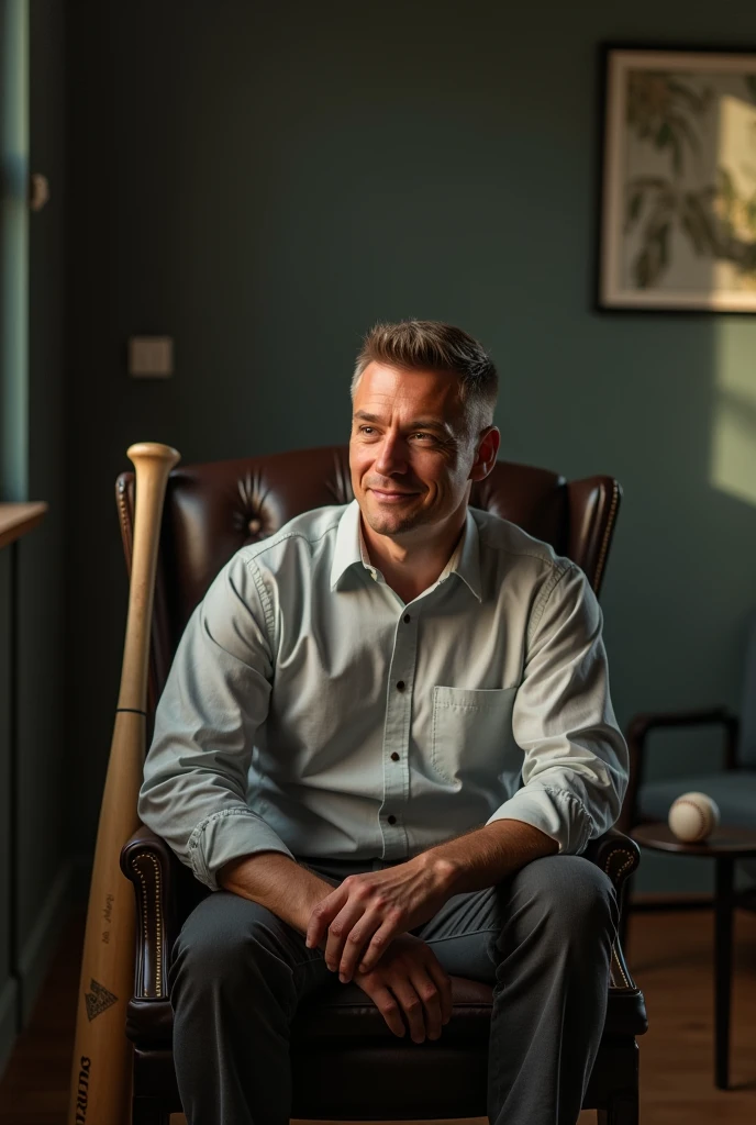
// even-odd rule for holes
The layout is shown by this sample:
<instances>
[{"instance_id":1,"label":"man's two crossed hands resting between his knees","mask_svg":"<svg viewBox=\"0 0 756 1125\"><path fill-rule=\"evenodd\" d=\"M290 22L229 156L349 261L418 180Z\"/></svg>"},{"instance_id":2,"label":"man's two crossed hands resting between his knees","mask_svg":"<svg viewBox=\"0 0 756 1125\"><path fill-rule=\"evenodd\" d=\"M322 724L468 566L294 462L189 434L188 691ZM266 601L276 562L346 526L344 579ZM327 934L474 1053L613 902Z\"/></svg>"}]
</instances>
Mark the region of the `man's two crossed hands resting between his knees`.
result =
<instances>
[{"instance_id":1,"label":"man's two crossed hands resting between his knees","mask_svg":"<svg viewBox=\"0 0 756 1125\"><path fill-rule=\"evenodd\" d=\"M443 906L452 878L451 864L426 855L349 875L314 907L307 926L307 947L325 940L328 969L339 972L342 983L354 978L394 1034L402 1036L398 1001L415 1042L423 1041L425 1030L438 1038L441 1024L449 1022L451 982L433 951L407 930Z\"/></svg>"}]
</instances>

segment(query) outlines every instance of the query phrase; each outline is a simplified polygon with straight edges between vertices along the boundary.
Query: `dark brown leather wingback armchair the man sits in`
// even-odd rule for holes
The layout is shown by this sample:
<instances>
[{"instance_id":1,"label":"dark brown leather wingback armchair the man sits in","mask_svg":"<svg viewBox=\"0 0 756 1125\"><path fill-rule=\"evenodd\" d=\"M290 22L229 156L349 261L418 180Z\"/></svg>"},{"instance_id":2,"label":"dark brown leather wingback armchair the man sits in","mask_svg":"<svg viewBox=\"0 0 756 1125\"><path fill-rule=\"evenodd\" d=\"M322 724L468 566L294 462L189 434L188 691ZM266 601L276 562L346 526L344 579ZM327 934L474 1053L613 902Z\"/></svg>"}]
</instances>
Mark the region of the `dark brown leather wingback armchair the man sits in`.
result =
<instances>
[{"instance_id":1,"label":"dark brown leather wingback armchair the man sits in","mask_svg":"<svg viewBox=\"0 0 756 1125\"><path fill-rule=\"evenodd\" d=\"M127 562L130 559L134 478L117 482ZM165 682L184 624L209 583L245 543L272 534L287 520L325 504L352 500L345 448L183 466L171 474L155 591L150 706ZM620 501L610 477L566 483L543 469L500 461L475 486L472 504L552 543L598 591ZM638 863L638 848L608 832L587 853L618 890ZM181 1110L171 1054L172 1012L166 975L183 919L208 893L146 828L122 854L138 912L134 998L128 1036L134 1044L135 1125L168 1125ZM397 1040L356 984L334 982L298 1011L292 1026L292 1115L335 1120L479 1117L486 1114L486 1069L492 990L452 979L453 1015L435 1042ZM616 946L609 1014L586 1108L604 1125L638 1119L636 1035L646 1030L644 998ZM220 1123L218 1123L220 1125Z\"/></svg>"}]
</instances>

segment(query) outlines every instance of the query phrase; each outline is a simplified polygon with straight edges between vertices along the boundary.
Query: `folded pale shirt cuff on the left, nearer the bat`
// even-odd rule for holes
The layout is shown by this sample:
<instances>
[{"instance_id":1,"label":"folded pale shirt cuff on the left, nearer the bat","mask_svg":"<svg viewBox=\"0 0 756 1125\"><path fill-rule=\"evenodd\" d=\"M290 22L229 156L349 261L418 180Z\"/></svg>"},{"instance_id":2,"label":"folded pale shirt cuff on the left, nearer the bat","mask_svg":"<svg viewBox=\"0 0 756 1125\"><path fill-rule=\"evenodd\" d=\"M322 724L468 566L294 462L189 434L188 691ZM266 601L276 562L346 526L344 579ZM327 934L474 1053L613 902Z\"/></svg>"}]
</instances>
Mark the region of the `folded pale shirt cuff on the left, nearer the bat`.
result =
<instances>
[{"instance_id":1,"label":"folded pale shirt cuff on the left, nearer the bat","mask_svg":"<svg viewBox=\"0 0 756 1125\"><path fill-rule=\"evenodd\" d=\"M212 891L223 890L217 874L224 864L243 855L280 852L295 858L262 817L243 808L223 809L201 820L189 837L188 850L196 878Z\"/></svg>"}]
</instances>

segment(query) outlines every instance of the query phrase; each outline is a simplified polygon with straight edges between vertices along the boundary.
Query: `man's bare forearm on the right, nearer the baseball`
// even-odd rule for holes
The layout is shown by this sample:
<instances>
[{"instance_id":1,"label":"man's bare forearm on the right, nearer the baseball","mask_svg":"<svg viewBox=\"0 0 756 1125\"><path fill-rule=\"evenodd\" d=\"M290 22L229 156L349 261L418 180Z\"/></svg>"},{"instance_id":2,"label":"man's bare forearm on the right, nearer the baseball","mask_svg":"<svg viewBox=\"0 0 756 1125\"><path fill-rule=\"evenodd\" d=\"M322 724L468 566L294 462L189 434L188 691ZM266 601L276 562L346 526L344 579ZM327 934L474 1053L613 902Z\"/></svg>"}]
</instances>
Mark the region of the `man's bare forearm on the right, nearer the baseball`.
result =
<instances>
[{"instance_id":1,"label":"man's bare forearm on the right, nearer the baseball","mask_svg":"<svg viewBox=\"0 0 756 1125\"><path fill-rule=\"evenodd\" d=\"M522 820L494 820L429 848L422 858L444 865L451 897L493 886L533 860L556 855L558 850L557 842L532 825Z\"/></svg>"}]
</instances>

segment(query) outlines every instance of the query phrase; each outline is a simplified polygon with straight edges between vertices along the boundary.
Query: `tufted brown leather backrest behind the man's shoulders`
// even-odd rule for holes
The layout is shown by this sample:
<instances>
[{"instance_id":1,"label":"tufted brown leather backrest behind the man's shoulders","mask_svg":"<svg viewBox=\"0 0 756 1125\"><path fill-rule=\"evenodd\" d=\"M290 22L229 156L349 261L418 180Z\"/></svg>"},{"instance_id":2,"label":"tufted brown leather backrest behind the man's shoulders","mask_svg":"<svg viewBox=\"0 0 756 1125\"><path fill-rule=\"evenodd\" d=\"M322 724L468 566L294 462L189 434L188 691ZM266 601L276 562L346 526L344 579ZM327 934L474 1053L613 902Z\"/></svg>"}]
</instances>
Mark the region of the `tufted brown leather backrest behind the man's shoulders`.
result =
<instances>
[{"instance_id":1,"label":"tufted brown leather backrest behind the man's shoulders","mask_svg":"<svg viewBox=\"0 0 756 1125\"><path fill-rule=\"evenodd\" d=\"M612 477L566 482L548 469L497 461L489 476L474 486L470 503L551 543L583 568L597 594L620 497ZM155 585L151 711L189 616L228 559L246 543L272 536L295 515L351 500L346 446L184 465L171 472ZM116 501L130 568L133 472L118 477Z\"/></svg>"}]
</instances>

